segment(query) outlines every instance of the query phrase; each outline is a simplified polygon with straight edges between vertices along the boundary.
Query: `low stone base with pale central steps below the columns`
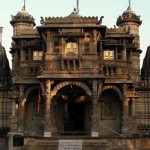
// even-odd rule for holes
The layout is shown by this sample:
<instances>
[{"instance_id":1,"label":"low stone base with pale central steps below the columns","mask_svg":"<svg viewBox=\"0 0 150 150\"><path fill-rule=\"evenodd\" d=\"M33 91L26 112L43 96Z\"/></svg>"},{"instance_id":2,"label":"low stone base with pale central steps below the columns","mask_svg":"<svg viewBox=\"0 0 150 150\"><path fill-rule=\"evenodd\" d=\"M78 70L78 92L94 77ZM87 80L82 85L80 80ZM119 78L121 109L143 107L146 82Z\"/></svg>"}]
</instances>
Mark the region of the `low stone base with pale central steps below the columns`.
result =
<instances>
[{"instance_id":1,"label":"low stone base with pale central steps below the columns","mask_svg":"<svg viewBox=\"0 0 150 150\"><path fill-rule=\"evenodd\" d=\"M58 138L25 138L23 147L15 147L13 150L133 150L150 149L149 138L88 138L66 137Z\"/></svg>"}]
</instances>

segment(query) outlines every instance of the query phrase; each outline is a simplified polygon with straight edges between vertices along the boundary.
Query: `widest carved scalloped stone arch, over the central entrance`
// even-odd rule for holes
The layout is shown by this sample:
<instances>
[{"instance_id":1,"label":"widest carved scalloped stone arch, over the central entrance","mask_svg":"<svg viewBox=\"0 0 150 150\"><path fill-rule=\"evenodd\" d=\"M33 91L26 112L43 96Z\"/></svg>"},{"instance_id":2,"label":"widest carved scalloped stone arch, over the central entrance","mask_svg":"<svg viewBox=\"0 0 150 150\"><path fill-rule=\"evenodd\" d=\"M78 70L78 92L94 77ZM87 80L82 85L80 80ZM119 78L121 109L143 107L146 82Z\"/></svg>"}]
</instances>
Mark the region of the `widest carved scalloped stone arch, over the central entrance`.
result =
<instances>
[{"instance_id":1,"label":"widest carved scalloped stone arch, over the central entrance","mask_svg":"<svg viewBox=\"0 0 150 150\"><path fill-rule=\"evenodd\" d=\"M92 95L92 92L91 92L90 88L85 83L83 83L83 82L77 82L77 81L64 81L64 82L61 82L61 83L57 84L54 87L54 89L52 90L53 95L56 95L57 92L61 88L65 87L65 86L68 86L68 85L79 86L79 87L81 87L86 92L87 95Z\"/></svg>"}]
</instances>

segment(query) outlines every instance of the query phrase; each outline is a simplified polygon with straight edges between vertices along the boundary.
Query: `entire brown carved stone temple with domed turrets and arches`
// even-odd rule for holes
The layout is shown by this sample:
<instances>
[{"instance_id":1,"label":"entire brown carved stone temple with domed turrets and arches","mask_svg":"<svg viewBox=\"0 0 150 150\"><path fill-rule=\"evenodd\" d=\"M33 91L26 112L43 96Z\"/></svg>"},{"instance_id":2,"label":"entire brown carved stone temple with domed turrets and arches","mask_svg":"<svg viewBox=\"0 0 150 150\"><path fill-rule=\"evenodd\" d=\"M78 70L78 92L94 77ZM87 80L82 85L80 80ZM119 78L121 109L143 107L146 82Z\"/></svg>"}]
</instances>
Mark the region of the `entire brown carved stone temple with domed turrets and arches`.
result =
<instances>
[{"instance_id":1,"label":"entire brown carved stone temple with domed turrets and arches","mask_svg":"<svg viewBox=\"0 0 150 150\"><path fill-rule=\"evenodd\" d=\"M0 140L9 150L150 149L142 21L130 7L114 28L103 18L74 9L36 26L25 7L12 16L12 70L0 47Z\"/></svg>"}]
</instances>

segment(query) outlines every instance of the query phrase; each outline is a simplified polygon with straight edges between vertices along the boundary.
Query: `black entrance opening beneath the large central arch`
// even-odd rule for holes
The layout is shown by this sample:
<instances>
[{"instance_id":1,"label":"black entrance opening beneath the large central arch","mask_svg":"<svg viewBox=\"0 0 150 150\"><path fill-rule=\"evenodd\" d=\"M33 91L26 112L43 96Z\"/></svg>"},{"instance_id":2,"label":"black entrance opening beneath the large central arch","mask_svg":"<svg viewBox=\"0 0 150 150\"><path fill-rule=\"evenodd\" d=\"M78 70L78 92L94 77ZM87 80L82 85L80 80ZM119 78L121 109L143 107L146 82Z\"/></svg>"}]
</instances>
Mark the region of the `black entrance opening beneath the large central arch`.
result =
<instances>
[{"instance_id":1,"label":"black entrance opening beneath the large central arch","mask_svg":"<svg viewBox=\"0 0 150 150\"><path fill-rule=\"evenodd\" d=\"M85 91L81 87L68 85L57 94L64 103L64 131L83 131L84 105L87 100Z\"/></svg>"}]
</instances>

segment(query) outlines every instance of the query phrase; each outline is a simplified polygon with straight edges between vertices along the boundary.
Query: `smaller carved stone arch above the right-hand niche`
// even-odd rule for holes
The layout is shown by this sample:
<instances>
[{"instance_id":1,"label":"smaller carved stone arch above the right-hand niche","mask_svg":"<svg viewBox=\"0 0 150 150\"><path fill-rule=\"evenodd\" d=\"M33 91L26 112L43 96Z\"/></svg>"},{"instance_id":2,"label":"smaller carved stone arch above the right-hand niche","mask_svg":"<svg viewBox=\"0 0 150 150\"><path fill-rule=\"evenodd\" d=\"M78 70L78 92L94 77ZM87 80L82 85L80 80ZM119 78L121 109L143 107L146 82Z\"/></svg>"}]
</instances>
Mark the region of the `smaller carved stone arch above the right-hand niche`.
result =
<instances>
[{"instance_id":1,"label":"smaller carved stone arch above the right-hand niche","mask_svg":"<svg viewBox=\"0 0 150 150\"><path fill-rule=\"evenodd\" d=\"M102 88L102 92L101 94L105 91L105 90L114 90L118 95L119 95L119 98L121 100L123 100L123 97L122 97L122 92L121 90L117 87L117 86L114 86L114 85L106 85Z\"/></svg>"}]
</instances>

